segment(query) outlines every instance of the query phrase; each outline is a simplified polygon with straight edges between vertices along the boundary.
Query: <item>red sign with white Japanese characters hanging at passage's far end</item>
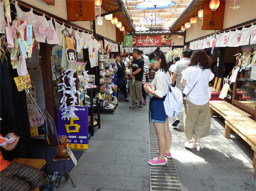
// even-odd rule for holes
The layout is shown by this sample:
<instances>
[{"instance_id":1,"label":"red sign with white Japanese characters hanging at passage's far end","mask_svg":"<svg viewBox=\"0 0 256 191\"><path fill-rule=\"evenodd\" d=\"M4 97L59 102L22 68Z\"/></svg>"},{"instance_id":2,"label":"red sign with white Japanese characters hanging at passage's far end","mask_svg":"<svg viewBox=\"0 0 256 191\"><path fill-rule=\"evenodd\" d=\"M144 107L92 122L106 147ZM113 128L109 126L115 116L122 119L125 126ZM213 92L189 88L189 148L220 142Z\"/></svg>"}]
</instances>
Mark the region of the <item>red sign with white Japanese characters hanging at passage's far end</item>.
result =
<instances>
[{"instance_id":1,"label":"red sign with white Japanese characters hanging at passage's far end","mask_svg":"<svg viewBox=\"0 0 256 191\"><path fill-rule=\"evenodd\" d=\"M136 36L136 46L161 46L161 35Z\"/></svg>"}]
</instances>

